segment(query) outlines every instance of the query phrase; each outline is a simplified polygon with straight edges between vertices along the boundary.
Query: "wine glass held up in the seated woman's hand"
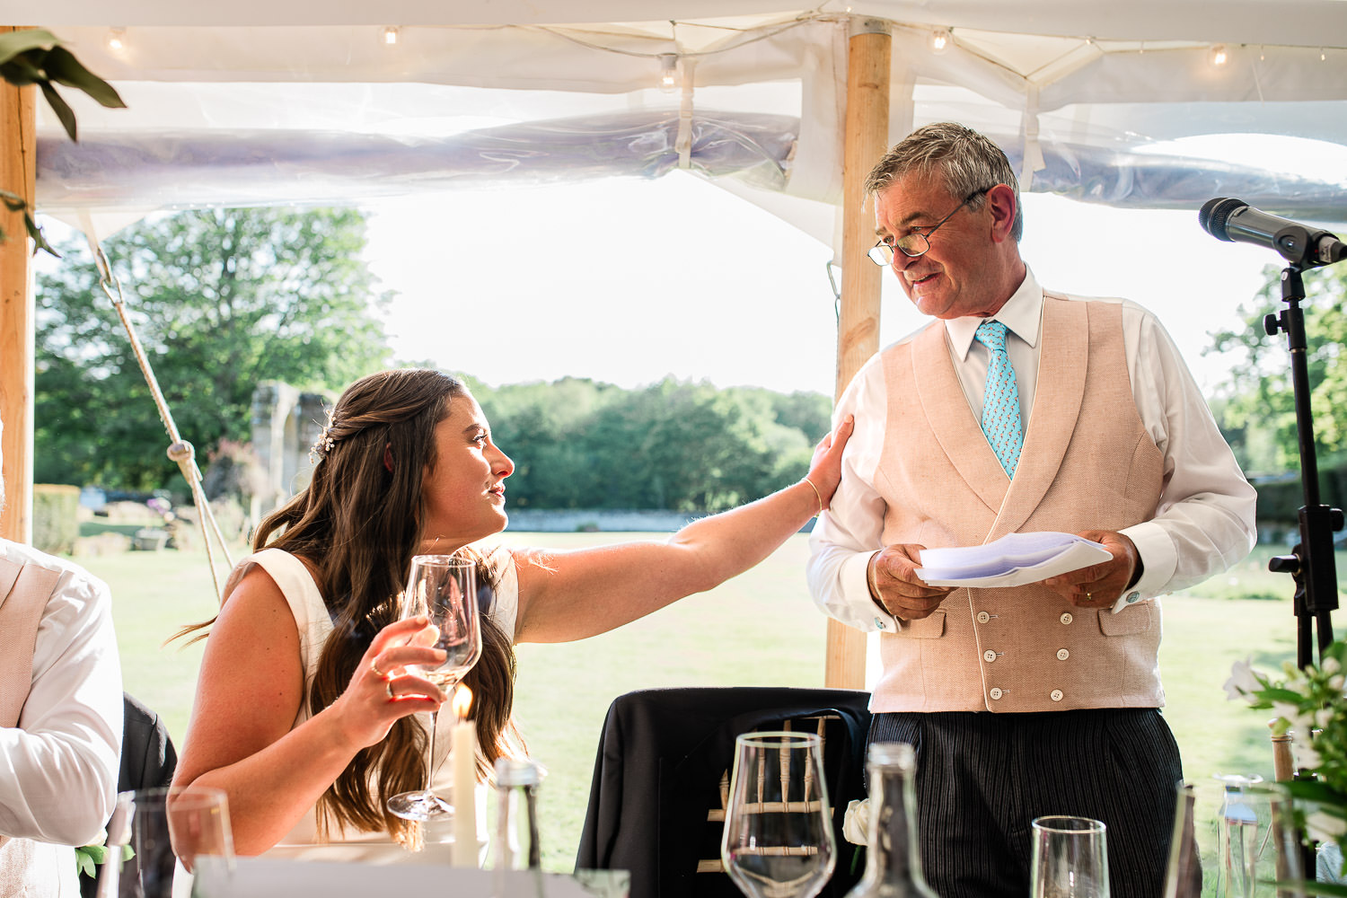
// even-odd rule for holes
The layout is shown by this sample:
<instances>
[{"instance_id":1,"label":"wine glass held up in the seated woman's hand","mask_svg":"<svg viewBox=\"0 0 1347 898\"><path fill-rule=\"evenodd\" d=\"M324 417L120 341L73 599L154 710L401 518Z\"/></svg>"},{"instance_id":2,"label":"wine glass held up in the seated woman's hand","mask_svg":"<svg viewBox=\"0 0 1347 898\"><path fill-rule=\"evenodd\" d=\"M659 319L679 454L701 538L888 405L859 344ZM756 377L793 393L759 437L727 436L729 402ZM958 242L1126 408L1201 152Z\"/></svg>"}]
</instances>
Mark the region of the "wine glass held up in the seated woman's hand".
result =
<instances>
[{"instance_id":1,"label":"wine glass held up in the seated woman's hand","mask_svg":"<svg viewBox=\"0 0 1347 898\"><path fill-rule=\"evenodd\" d=\"M446 653L438 668L409 666L445 692L463 679L482 656L482 626L477 610L477 564L451 555L418 555L412 559L407 591L403 592L401 617L424 614L439 629L436 649ZM438 712L430 715L430 754L426 759L426 788L403 792L388 800L388 809L407 820L447 820L454 805L436 796L435 724Z\"/></svg>"}]
</instances>

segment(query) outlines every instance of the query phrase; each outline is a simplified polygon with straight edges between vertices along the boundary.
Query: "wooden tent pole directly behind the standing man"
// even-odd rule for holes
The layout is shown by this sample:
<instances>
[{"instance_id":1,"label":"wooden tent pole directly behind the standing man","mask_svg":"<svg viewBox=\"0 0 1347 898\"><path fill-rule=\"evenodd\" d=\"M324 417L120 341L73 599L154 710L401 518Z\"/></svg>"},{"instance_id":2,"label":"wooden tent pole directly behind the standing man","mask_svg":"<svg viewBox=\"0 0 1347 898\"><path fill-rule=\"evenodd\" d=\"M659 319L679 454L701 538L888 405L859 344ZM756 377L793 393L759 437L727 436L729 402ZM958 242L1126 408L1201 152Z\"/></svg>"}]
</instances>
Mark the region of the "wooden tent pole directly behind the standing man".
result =
<instances>
[{"instance_id":1,"label":"wooden tent pole directly behind the standing man","mask_svg":"<svg viewBox=\"0 0 1347 898\"><path fill-rule=\"evenodd\" d=\"M889 61L886 22L857 19L851 26L846 75L846 136L842 158L842 306L838 312L836 394L880 349L880 275L866 258L874 245L874 218L865 202L865 176L889 141ZM824 683L865 688L865 634L828 619Z\"/></svg>"}]
</instances>

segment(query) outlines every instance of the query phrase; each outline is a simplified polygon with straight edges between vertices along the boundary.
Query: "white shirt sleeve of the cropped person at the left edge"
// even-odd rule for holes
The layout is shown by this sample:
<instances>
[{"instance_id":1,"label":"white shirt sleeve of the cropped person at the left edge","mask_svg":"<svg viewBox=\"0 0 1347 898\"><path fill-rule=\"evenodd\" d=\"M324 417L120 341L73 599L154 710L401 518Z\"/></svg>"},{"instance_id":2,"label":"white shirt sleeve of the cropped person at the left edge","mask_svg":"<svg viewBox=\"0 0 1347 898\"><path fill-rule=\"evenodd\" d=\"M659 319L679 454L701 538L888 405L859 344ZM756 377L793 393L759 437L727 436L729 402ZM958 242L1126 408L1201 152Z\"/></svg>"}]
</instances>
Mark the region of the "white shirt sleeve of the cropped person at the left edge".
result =
<instances>
[{"instance_id":1,"label":"white shirt sleeve of the cropped person at the left edge","mask_svg":"<svg viewBox=\"0 0 1347 898\"><path fill-rule=\"evenodd\" d=\"M121 668L108 587L63 567L42 613L19 726L0 728L0 835L84 845L116 798Z\"/></svg>"}]
</instances>

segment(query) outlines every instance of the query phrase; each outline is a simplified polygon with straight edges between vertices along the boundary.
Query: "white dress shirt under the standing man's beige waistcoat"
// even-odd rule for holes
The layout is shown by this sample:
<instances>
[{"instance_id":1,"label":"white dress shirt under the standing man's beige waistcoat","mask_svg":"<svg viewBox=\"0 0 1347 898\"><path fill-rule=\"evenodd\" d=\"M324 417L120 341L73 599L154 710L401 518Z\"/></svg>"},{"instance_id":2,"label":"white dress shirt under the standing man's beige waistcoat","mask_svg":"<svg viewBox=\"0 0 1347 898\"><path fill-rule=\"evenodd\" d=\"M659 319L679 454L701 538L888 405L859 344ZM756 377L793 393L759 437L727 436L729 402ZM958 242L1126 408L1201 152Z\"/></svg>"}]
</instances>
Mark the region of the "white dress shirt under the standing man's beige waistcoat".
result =
<instances>
[{"instance_id":1,"label":"white dress shirt under the standing man's beige waistcoat","mask_svg":"<svg viewBox=\"0 0 1347 898\"><path fill-rule=\"evenodd\" d=\"M1076 299L1076 298L1072 298ZM1199 583L1245 557L1257 539L1254 489L1220 436L1211 409L1179 349L1154 315L1127 300L1122 304L1123 346L1137 412L1164 455L1164 486L1150 521L1121 530L1137 545L1141 579L1118 599L1146 599ZM1006 326L1006 353L1020 390L1020 417L1029 420L1039 378L1043 289L1028 272L997 312ZM964 400L982 419L990 350L973 339L981 318L936 322L946 329L950 354ZM912 335L904 338L912 339ZM884 499L874 489L880 452L888 431L888 384L877 353L847 385L834 420L855 416L855 431L842 456L842 483L810 537L810 591L831 617L859 630L901 623L870 598L866 565L884 548ZM952 399L952 397L951 397ZM935 548L935 547L928 547ZM877 611L880 618L877 619Z\"/></svg>"}]
</instances>

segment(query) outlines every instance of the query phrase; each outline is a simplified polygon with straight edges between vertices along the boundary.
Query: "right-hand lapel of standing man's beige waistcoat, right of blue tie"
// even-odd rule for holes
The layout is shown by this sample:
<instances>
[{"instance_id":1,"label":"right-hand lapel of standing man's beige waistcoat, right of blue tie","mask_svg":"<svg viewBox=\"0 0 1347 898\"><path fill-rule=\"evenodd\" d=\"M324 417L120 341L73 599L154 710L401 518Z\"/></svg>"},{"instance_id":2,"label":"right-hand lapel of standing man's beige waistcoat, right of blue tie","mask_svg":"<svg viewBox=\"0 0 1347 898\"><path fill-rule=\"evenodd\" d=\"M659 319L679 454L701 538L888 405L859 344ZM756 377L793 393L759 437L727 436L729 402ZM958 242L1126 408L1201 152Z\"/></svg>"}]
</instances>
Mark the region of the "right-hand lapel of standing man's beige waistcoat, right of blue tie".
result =
<instances>
[{"instance_id":1,"label":"right-hand lapel of standing man's beige waistcoat, right of blue tie","mask_svg":"<svg viewBox=\"0 0 1347 898\"><path fill-rule=\"evenodd\" d=\"M1044 295L1033 412L1025 428L1020 467L1001 514L987 534L989 543L1020 529L1056 479L1080 413L1088 354L1087 304Z\"/></svg>"}]
</instances>

